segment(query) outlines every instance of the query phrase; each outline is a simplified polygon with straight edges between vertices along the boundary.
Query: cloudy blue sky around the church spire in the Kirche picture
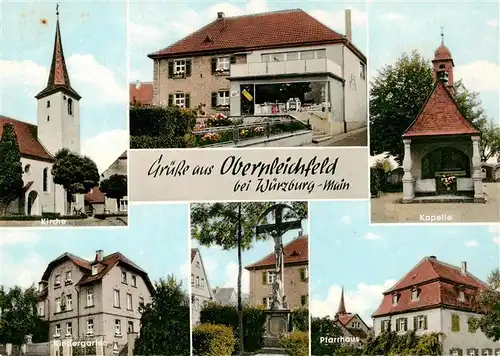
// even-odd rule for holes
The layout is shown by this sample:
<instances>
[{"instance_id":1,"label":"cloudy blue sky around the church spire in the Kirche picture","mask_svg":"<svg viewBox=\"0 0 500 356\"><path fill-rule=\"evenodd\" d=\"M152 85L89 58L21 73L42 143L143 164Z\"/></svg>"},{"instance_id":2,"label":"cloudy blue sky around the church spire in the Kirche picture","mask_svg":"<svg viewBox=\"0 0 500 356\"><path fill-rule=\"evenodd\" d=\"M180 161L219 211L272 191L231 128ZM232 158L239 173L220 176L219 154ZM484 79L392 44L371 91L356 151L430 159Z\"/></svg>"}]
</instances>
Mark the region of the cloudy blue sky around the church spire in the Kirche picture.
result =
<instances>
[{"instance_id":1,"label":"cloudy blue sky around the church spire in the Kirche picture","mask_svg":"<svg viewBox=\"0 0 500 356\"><path fill-rule=\"evenodd\" d=\"M82 96L82 153L100 172L128 147L126 11L125 1L59 2L71 86ZM47 84L56 3L4 0L1 21L0 114L36 124L34 96Z\"/></svg>"}]
</instances>

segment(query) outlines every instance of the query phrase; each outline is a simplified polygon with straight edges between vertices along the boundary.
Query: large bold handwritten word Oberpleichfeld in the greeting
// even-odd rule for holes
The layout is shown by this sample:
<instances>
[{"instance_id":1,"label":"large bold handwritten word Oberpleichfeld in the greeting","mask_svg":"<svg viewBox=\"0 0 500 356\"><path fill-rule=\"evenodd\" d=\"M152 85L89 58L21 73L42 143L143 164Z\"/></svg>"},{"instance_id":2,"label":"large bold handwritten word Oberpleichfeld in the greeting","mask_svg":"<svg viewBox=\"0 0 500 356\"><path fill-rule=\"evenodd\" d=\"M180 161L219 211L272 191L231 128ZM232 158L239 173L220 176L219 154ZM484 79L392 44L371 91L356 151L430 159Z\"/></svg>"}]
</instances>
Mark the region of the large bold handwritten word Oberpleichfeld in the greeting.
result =
<instances>
[{"instance_id":1,"label":"large bold handwritten word Oberpleichfeld in the greeting","mask_svg":"<svg viewBox=\"0 0 500 356\"><path fill-rule=\"evenodd\" d=\"M337 169L338 157L330 159L318 159L314 156L310 160L304 160L302 157L292 159L287 157L282 159L275 157L271 162L247 162L242 157L228 156L222 163L220 174L231 174L233 176L253 176L260 178L262 176L277 175L334 175Z\"/></svg>"}]
</instances>

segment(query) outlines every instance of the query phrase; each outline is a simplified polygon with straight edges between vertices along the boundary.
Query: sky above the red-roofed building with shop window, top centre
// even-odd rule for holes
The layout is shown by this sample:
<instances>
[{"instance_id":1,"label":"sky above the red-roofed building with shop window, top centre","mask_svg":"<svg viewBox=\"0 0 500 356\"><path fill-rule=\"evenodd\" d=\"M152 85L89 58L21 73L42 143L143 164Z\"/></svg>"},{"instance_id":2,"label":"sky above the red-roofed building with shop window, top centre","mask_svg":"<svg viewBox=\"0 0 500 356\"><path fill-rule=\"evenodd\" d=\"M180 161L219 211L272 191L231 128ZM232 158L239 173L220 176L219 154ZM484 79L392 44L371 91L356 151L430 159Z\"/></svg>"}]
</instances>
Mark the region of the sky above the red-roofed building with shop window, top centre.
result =
<instances>
[{"instance_id":1,"label":"sky above the red-roofed building with shop window, top centre","mask_svg":"<svg viewBox=\"0 0 500 356\"><path fill-rule=\"evenodd\" d=\"M147 54L166 48L214 21L217 12L240 16L268 11L302 9L331 29L344 31L344 10L350 8L353 43L367 50L367 3L325 1L130 1L130 81L153 80L153 61ZM166 11L168 9L168 11Z\"/></svg>"}]
</instances>

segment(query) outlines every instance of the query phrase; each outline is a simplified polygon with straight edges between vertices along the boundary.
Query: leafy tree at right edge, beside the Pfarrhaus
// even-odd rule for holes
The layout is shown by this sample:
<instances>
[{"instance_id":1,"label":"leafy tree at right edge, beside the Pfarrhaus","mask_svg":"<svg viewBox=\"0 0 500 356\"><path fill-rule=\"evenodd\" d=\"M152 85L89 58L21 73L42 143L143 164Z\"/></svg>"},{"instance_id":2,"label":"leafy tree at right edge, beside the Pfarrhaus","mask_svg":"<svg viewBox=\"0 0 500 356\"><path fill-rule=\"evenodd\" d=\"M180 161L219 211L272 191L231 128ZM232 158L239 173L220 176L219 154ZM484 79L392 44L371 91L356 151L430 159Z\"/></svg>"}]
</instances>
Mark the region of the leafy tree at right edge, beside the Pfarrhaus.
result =
<instances>
[{"instance_id":1,"label":"leafy tree at right edge, beside the Pfarrhaus","mask_svg":"<svg viewBox=\"0 0 500 356\"><path fill-rule=\"evenodd\" d=\"M484 313L476 321L481 331L493 341L500 340L500 269L493 270L488 276L489 290L477 297L478 309Z\"/></svg>"}]
</instances>

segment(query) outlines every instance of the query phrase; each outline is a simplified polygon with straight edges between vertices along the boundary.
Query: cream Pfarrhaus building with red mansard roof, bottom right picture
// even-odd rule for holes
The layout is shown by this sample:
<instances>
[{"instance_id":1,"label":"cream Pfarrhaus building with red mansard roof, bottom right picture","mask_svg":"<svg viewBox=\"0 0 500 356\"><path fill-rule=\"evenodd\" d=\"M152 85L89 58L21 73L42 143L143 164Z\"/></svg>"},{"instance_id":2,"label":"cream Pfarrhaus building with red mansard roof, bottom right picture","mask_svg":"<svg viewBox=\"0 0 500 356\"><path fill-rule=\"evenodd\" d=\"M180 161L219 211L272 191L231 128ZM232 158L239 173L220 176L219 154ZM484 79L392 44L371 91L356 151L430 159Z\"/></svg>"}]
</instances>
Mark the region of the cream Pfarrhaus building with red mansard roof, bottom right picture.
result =
<instances>
[{"instance_id":1,"label":"cream Pfarrhaus building with red mansard roof, bottom right picture","mask_svg":"<svg viewBox=\"0 0 500 356\"><path fill-rule=\"evenodd\" d=\"M417 335L442 333L446 355L499 355L500 342L488 339L472 323L480 318L475 298L489 287L467 270L439 261L422 259L388 291L373 314L375 335L384 330Z\"/></svg>"}]
</instances>

